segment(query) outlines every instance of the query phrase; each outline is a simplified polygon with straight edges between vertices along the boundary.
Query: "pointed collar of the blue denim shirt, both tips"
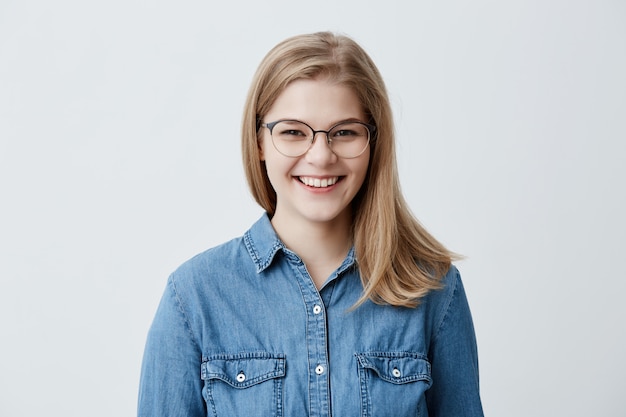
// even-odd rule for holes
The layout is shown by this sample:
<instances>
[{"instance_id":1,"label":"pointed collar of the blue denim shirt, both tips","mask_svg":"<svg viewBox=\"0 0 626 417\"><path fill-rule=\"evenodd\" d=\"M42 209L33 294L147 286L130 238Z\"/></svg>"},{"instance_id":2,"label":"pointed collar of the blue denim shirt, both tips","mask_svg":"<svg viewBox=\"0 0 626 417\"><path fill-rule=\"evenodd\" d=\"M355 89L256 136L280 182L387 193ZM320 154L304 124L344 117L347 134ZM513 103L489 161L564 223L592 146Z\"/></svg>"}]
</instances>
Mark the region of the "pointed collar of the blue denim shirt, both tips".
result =
<instances>
[{"instance_id":1,"label":"pointed collar of the blue denim shirt, both tips","mask_svg":"<svg viewBox=\"0 0 626 417\"><path fill-rule=\"evenodd\" d=\"M264 213L259 220L244 234L243 240L248 250L248 254L256 265L256 272L260 273L271 265L276 253L282 250L287 255L296 256L290 251L285 244L279 239L270 218ZM336 271L336 275L341 274L346 269L355 264L354 247L348 252L348 256L342 262Z\"/></svg>"}]
</instances>

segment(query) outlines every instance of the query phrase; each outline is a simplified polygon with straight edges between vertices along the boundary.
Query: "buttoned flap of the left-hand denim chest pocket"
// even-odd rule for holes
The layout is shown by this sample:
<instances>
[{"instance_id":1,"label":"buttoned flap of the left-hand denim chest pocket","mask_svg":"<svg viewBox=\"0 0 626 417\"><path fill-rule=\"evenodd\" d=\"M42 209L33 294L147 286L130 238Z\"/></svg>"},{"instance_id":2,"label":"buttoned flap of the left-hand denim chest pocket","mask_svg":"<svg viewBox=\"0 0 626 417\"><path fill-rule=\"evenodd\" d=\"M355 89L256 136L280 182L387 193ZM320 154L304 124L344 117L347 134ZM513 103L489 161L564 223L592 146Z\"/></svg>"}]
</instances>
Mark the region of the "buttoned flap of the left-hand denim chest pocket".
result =
<instances>
[{"instance_id":1,"label":"buttoned flap of the left-hand denim chest pocket","mask_svg":"<svg viewBox=\"0 0 626 417\"><path fill-rule=\"evenodd\" d=\"M285 356L268 352L220 354L202 362L202 379L219 379L235 388L247 388L285 376Z\"/></svg>"}]
</instances>

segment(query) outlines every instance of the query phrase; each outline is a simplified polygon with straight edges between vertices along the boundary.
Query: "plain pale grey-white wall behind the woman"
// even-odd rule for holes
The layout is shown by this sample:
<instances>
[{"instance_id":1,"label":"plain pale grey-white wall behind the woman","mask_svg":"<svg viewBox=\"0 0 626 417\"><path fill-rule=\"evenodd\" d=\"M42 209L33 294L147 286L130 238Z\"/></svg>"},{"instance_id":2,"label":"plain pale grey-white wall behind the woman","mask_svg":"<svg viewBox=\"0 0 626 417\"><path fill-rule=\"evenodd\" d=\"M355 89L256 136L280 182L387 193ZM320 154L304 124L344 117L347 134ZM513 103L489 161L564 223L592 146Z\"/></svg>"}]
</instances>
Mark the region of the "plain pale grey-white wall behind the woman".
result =
<instances>
[{"instance_id":1,"label":"plain pale grey-white wall behind the woman","mask_svg":"<svg viewBox=\"0 0 626 417\"><path fill-rule=\"evenodd\" d=\"M135 414L167 276L261 215L256 65L326 29L379 65L404 192L467 256L486 414L626 415L623 1L3 0L1 416Z\"/></svg>"}]
</instances>

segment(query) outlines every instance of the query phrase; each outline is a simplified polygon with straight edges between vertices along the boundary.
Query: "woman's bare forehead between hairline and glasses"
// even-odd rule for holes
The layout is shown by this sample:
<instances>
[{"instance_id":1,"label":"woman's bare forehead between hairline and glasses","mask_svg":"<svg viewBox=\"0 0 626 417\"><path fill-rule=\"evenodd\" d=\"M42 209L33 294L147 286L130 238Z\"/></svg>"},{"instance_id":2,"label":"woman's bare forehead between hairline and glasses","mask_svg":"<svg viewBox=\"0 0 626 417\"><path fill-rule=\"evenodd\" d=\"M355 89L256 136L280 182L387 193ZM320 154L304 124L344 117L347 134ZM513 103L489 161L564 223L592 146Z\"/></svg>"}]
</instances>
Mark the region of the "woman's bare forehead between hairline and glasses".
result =
<instances>
[{"instance_id":1,"label":"woman's bare forehead between hairline and glasses","mask_svg":"<svg viewBox=\"0 0 626 417\"><path fill-rule=\"evenodd\" d=\"M300 79L287 85L267 112L266 121L278 119L328 125L348 119L365 121L365 114L350 87L323 78Z\"/></svg>"}]
</instances>

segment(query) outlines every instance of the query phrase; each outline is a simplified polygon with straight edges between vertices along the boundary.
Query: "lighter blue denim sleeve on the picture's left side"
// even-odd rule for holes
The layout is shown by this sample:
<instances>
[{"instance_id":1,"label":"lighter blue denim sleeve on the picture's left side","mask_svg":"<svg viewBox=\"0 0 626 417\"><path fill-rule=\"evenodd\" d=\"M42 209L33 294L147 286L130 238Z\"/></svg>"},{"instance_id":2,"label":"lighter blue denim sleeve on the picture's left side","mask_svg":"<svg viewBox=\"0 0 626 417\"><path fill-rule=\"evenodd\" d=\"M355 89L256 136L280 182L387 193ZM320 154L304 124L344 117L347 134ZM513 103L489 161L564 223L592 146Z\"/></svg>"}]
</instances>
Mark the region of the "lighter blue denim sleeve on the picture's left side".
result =
<instances>
[{"instance_id":1,"label":"lighter blue denim sleeve on the picture's left side","mask_svg":"<svg viewBox=\"0 0 626 417\"><path fill-rule=\"evenodd\" d=\"M206 416L202 353L170 277L148 332L139 384L139 417Z\"/></svg>"}]
</instances>

